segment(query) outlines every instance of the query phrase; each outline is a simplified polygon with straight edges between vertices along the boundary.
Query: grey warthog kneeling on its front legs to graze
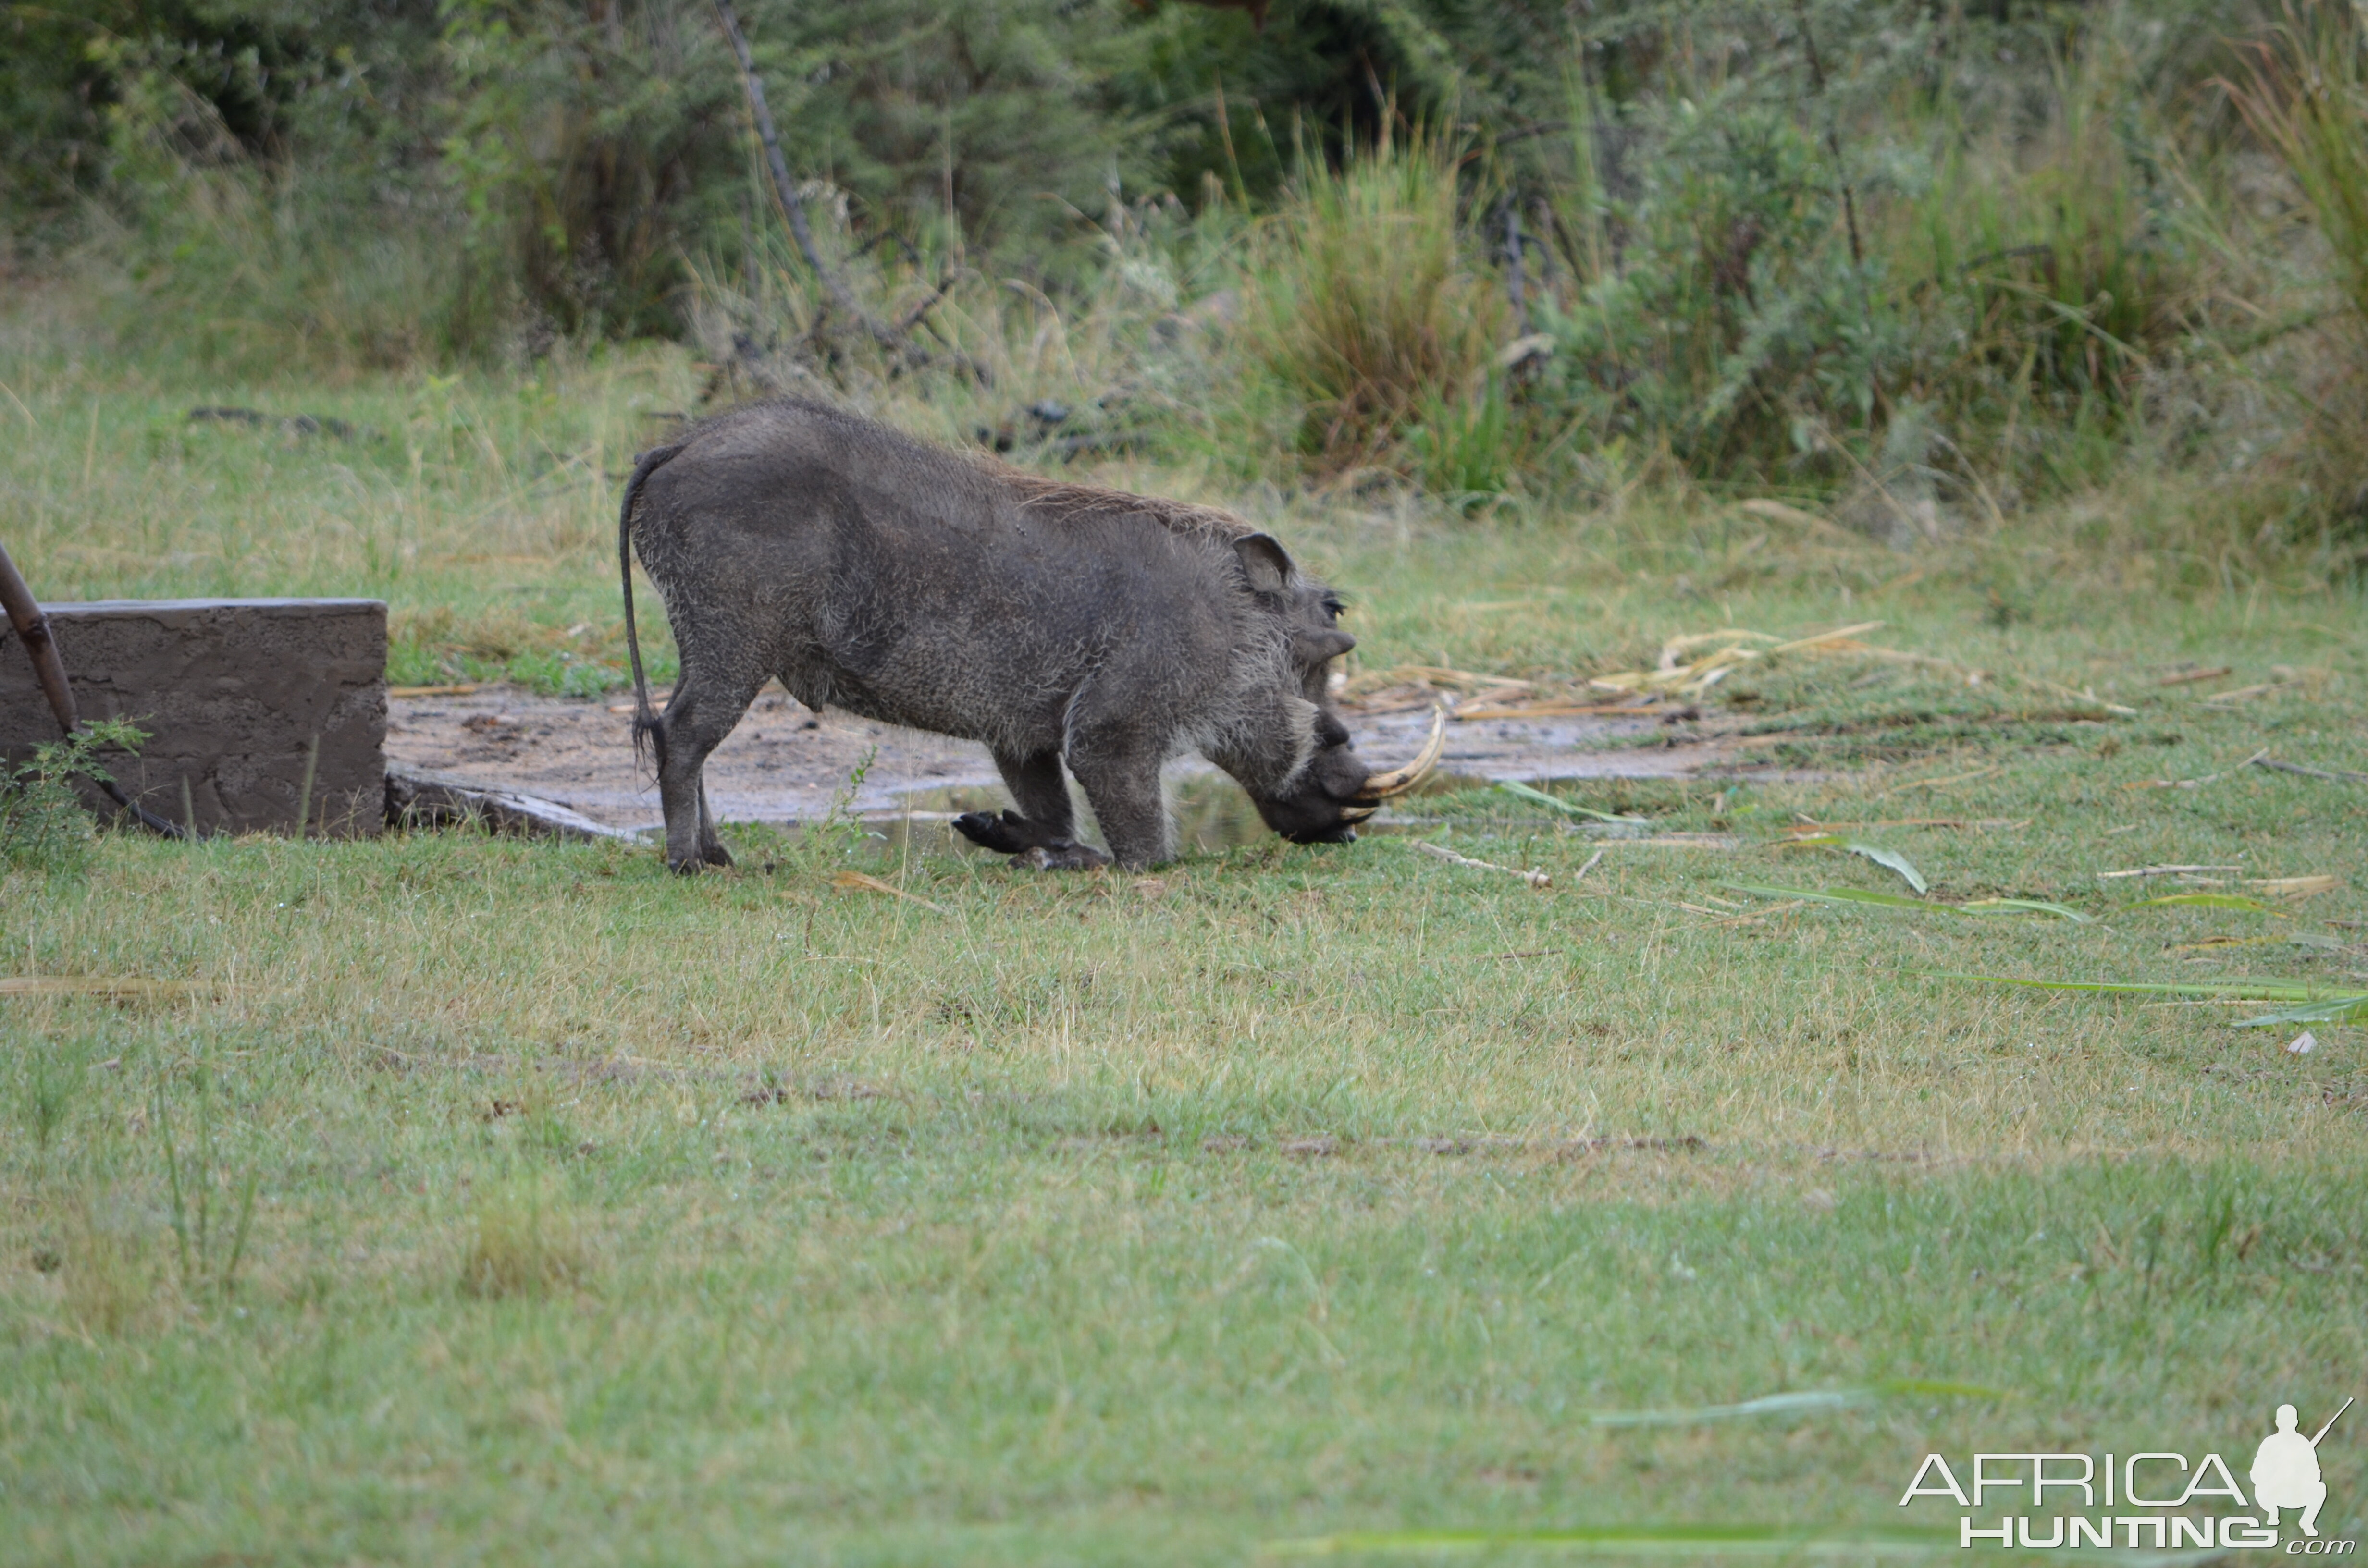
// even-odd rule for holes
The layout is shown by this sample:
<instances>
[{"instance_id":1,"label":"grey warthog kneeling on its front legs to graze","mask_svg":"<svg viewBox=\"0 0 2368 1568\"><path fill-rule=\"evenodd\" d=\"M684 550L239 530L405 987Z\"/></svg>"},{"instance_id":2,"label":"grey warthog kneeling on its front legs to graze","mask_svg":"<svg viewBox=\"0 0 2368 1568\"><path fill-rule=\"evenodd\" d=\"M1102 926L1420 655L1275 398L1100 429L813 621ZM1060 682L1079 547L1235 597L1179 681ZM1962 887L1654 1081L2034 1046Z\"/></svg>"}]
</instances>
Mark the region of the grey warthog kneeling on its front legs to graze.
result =
<instances>
[{"instance_id":1,"label":"grey warthog kneeling on its front legs to graze","mask_svg":"<svg viewBox=\"0 0 2368 1568\"><path fill-rule=\"evenodd\" d=\"M1160 763L1198 751L1267 827L1345 843L1442 748L1373 775L1326 689L1340 599L1210 507L1096 490L781 400L644 452L618 512L635 744L658 753L665 865L732 865L701 767L767 677L812 706L985 741L1018 810L954 827L1040 867L1170 857ZM656 715L632 554L682 677ZM1077 843L1061 765L1111 843Z\"/></svg>"}]
</instances>

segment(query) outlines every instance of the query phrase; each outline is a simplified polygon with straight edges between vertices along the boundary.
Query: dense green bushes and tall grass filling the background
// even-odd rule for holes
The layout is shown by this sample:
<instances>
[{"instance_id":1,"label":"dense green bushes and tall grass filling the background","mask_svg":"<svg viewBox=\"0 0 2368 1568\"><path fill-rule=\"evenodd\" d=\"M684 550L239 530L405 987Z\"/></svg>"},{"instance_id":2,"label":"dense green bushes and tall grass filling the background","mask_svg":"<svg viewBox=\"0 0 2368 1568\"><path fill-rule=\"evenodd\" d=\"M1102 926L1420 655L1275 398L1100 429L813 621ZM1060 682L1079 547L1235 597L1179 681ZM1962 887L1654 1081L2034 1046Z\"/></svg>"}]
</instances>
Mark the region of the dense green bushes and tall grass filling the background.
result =
<instances>
[{"instance_id":1,"label":"dense green bushes and tall grass filling the background","mask_svg":"<svg viewBox=\"0 0 2368 1568\"><path fill-rule=\"evenodd\" d=\"M919 348L829 320L706 0L12 7L12 242L237 369L689 336L715 396L952 372L945 422L1009 448L1028 298L1113 320L1066 450L1684 476L1894 540L2134 460L2290 540L2368 516L2368 73L2330 0L741 19L824 265Z\"/></svg>"}]
</instances>

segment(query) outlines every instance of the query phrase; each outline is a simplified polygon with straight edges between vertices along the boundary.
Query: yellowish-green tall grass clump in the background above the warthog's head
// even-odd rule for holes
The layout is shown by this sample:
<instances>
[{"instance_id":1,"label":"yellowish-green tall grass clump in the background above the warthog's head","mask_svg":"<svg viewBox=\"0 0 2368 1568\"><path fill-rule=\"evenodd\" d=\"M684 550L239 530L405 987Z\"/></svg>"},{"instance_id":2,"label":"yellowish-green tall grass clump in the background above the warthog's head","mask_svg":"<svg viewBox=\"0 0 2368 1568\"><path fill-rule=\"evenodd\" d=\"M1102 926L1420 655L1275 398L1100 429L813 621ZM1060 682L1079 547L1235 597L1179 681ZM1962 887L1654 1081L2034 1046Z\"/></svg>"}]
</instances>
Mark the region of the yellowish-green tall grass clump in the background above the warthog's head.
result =
<instances>
[{"instance_id":1,"label":"yellowish-green tall grass clump in the background above the warthog's head","mask_svg":"<svg viewBox=\"0 0 2368 1568\"><path fill-rule=\"evenodd\" d=\"M1388 464L1414 429L1475 471L1468 431L1508 306L1468 242L1456 163L1426 133L1383 135L1340 168L1310 161L1253 246L1243 343L1295 405L1319 471ZM1442 441L1449 424L1459 438ZM1478 424L1501 436L1485 412Z\"/></svg>"}]
</instances>

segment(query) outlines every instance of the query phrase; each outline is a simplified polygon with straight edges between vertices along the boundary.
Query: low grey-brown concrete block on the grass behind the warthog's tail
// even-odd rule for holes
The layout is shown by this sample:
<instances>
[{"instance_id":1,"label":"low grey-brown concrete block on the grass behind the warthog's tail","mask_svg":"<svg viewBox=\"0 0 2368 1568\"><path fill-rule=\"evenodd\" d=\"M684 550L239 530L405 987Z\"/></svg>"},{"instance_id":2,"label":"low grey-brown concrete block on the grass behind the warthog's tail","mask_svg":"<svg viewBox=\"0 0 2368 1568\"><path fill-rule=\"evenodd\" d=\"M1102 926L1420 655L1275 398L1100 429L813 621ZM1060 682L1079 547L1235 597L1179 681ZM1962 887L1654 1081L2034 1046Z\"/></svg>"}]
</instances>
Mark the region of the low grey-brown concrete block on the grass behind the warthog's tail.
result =
<instances>
[{"instance_id":1,"label":"low grey-brown concrete block on the grass behind the warthog's tail","mask_svg":"<svg viewBox=\"0 0 2368 1568\"><path fill-rule=\"evenodd\" d=\"M386 604L379 599L109 599L45 604L83 718L130 718L111 756L128 796L199 834L386 824ZM57 739L33 661L0 618L0 751ZM92 803L104 803L95 789ZM107 810L114 810L107 805Z\"/></svg>"}]
</instances>

